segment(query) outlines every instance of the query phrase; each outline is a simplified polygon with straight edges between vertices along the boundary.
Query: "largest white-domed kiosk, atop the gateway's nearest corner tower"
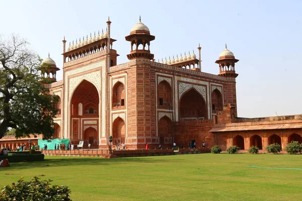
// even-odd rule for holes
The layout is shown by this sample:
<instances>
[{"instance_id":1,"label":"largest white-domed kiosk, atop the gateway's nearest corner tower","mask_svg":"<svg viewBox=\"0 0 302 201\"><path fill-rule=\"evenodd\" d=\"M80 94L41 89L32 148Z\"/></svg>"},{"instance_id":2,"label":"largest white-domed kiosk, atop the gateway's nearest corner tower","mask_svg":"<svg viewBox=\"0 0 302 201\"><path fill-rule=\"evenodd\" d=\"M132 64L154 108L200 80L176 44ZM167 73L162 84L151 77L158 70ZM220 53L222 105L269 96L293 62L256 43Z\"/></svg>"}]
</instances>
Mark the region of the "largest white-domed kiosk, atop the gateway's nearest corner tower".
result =
<instances>
[{"instance_id":1,"label":"largest white-domed kiosk, atop the gateway's nearest corner tower","mask_svg":"<svg viewBox=\"0 0 302 201\"><path fill-rule=\"evenodd\" d=\"M131 42L131 52L127 55L128 59L145 58L152 60L154 54L150 53L150 41L155 39L155 36L150 35L149 28L139 22L131 29L130 35L126 36L126 41ZM135 49L133 45L135 44Z\"/></svg>"}]
</instances>

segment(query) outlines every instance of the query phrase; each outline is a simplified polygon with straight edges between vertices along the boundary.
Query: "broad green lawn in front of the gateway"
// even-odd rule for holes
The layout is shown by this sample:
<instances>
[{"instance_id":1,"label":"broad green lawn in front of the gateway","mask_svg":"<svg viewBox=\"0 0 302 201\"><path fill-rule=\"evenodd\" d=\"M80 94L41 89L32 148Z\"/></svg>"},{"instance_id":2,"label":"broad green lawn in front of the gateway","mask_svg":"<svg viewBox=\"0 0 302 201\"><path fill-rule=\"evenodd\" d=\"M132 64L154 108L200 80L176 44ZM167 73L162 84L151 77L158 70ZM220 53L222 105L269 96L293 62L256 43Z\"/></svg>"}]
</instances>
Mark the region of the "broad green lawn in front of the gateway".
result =
<instances>
[{"instance_id":1,"label":"broad green lawn in front of the gateway","mask_svg":"<svg viewBox=\"0 0 302 201\"><path fill-rule=\"evenodd\" d=\"M49 166L46 166L46 165ZM2 185L34 175L67 185L72 200L301 200L302 155L189 154L50 157L0 168ZM8 175L9 174L9 175Z\"/></svg>"}]
</instances>

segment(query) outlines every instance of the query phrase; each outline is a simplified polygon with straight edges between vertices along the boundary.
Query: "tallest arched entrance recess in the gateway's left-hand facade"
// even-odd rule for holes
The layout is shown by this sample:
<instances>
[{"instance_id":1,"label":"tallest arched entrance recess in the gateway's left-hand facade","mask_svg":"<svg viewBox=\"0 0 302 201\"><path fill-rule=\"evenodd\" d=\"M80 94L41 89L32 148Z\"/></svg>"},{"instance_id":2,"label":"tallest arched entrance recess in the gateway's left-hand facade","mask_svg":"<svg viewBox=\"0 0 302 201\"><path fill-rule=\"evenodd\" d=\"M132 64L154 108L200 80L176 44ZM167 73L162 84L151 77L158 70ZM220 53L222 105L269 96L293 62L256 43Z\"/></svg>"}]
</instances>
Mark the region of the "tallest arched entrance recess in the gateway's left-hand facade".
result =
<instances>
[{"instance_id":1,"label":"tallest arched entrance recess in the gateway's left-hand facade","mask_svg":"<svg viewBox=\"0 0 302 201\"><path fill-rule=\"evenodd\" d=\"M97 88L87 80L83 80L74 90L69 108L71 115L69 138L71 143L78 144L82 139L88 143L89 139L85 139L85 133L92 132L91 129L85 130L88 126L95 128L96 133L98 133L99 102ZM93 142L90 143L91 145L97 145L99 135L96 135L91 142Z\"/></svg>"}]
</instances>

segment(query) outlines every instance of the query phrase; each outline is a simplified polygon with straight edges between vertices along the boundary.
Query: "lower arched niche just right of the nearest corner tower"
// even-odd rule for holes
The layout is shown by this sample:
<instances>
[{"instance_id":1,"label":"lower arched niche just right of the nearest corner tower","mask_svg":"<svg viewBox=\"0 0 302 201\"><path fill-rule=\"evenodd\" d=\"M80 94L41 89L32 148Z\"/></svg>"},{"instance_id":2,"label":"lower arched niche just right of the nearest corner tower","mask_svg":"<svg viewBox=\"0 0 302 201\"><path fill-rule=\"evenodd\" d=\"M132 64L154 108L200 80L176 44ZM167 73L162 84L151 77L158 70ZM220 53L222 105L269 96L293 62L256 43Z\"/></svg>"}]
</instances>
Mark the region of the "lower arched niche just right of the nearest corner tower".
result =
<instances>
[{"instance_id":1,"label":"lower arched niche just right of the nearest corner tower","mask_svg":"<svg viewBox=\"0 0 302 201\"><path fill-rule=\"evenodd\" d=\"M160 137L160 144L172 144L172 121L167 116L159 121L158 135Z\"/></svg>"}]
</instances>

